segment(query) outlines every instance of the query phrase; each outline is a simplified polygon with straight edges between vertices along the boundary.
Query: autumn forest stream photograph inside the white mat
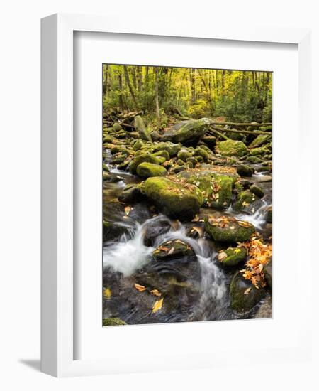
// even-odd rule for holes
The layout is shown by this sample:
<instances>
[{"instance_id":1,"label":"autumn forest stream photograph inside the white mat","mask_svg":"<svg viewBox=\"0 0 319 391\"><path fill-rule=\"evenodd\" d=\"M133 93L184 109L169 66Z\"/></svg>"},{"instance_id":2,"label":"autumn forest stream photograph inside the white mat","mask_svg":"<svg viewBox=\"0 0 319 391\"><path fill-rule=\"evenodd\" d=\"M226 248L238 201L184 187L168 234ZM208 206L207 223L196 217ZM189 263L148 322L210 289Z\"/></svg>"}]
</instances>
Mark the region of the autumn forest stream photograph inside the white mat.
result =
<instances>
[{"instance_id":1,"label":"autumn forest stream photograph inside the white mat","mask_svg":"<svg viewBox=\"0 0 319 391\"><path fill-rule=\"evenodd\" d=\"M272 72L101 72L103 326L272 318Z\"/></svg>"}]
</instances>

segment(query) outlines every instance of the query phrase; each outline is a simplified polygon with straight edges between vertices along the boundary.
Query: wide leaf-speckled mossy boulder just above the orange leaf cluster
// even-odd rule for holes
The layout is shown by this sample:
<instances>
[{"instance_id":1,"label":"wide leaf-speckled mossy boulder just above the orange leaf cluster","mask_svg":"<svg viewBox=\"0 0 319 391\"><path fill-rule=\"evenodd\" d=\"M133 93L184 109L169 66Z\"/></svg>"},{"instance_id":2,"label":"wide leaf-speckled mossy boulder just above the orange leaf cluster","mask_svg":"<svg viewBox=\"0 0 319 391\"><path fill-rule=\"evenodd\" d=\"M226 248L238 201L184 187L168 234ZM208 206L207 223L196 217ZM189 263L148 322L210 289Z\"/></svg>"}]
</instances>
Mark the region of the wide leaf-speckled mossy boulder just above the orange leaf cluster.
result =
<instances>
[{"instance_id":1,"label":"wide leaf-speckled mossy boulder just above the orange leaf cluster","mask_svg":"<svg viewBox=\"0 0 319 391\"><path fill-rule=\"evenodd\" d=\"M235 218L206 219L205 230L216 242L246 242L256 232L254 225Z\"/></svg>"}]
</instances>

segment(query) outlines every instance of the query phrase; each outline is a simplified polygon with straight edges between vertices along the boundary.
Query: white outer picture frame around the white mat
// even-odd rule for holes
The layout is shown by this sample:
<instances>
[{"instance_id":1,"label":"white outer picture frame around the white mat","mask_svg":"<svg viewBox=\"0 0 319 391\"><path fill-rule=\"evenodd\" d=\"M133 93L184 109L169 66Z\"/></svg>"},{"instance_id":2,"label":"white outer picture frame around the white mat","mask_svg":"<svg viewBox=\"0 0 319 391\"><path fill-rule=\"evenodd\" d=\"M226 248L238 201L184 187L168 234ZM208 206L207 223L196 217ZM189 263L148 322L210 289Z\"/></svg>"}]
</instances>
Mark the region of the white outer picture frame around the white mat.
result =
<instances>
[{"instance_id":1,"label":"white outer picture frame around the white mat","mask_svg":"<svg viewBox=\"0 0 319 391\"><path fill-rule=\"evenodd\" d=\"M243 28L220 25L184 26L176 21L174 25L162 23L140 24L119 23L114 16L81 16L55 14L43 18L41 23L42 43L42 250L41 250L41 368L44 373L57 377L77 375L106 375L150 370L147 363L139 360L125 361L126 347L122 347L122 362L108 359L74 360L74 137L73 137L73 80L74 80L74 31L120 33L145 36L168 36L200 38L203 40L250 41L255 43L289 43L298 45L298 137L306 140L310 135L308 110L310 107L310 31L281 28ZM139 26L138 28L135 26ZM302 167L298 180L310 185L306 148L301 149ZM305 196L307 186L300 186L299 199ZM300 208L300 205L298 206ZM298 209L299 212L301 209ZM310 208L298 215L298 224L310 225ZM298 232L299 233L299 232ZM306 240L304 237L303 240ZM300 247L300 241L296 244ZM307 248L307 246L305 246ZM310 245L308 259L302 267L310 267ZM305 254L307 259L307 255ZM296 274L298 270L296 269ZM303 290L305 300L310 303L310 287ZM310 305L310 304L308 304ZM305 326L306 325L306 326ZM139 326L135 326L139 327ZM172 326L169 326L172 327ZM173 326L174 327L174 326ZM310 354L310 333L308 319L298 330L295 346L278 349L276 360L306 358ZM225 357L230 352L225 347ZM196 357L196 368L213 367L220 361L206 356ZM274 354L269 350L270 355ZM250 352L232 352L249 360ZM128 353L128 356L130 353ZM205 358L205 359L204 359ZM253 359L253 358L252 358ZM165 360L164 360L165 361ZM186 354L167 359L157 369L193 368Z\"/></svg>"}]
</instances>

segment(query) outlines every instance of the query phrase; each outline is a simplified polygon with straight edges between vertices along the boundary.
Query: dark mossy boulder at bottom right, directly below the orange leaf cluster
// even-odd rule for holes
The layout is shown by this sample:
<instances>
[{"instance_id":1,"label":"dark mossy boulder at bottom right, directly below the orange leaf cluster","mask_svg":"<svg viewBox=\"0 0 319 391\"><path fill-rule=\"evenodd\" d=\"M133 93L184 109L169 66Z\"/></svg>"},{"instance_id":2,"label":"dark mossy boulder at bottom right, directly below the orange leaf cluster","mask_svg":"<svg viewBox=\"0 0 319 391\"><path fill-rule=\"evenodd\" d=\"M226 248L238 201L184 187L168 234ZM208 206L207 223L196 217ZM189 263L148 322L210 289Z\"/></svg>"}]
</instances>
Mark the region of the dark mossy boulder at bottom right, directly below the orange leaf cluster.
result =
<instances>
[{"instance_id":1,"label":"dark mossy boulder at bottom right, directly below the orange leaf cluster","mask_svg":"<svg viewBox=\"0 0 319 391\"><path fill-rule=\"evenodd\" d=\"M242 277L240 272L237 272L230 282L230 306L238 313L253 309L265 294L263 288L255 288L250 280Z\"/></svg>"}]
</instances>

